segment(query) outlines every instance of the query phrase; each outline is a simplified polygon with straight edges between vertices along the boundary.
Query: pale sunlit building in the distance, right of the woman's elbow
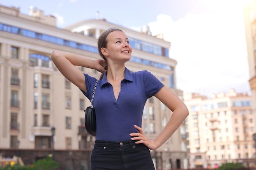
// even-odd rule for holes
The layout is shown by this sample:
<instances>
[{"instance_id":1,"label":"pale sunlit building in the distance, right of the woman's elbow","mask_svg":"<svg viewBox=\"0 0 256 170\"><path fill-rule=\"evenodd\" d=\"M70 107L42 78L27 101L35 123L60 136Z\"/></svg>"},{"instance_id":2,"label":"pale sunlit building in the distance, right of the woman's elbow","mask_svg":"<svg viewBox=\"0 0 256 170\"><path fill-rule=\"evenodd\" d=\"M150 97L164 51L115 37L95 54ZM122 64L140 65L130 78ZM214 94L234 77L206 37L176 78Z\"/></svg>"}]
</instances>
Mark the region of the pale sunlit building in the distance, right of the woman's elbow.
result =
<instances>
[{"instance_id":1,"label":"pale sunlit building in the distance, right of the woman's elbow","mask_svg":"<svg viewBox=\"0 0 256 170\"><path fill-rule=\"evenodd\" d=\"M184 95L189 109L190 168L214 168L227 162L255 165L252 98L247 93Z\"/></svg>"}]
</instances>

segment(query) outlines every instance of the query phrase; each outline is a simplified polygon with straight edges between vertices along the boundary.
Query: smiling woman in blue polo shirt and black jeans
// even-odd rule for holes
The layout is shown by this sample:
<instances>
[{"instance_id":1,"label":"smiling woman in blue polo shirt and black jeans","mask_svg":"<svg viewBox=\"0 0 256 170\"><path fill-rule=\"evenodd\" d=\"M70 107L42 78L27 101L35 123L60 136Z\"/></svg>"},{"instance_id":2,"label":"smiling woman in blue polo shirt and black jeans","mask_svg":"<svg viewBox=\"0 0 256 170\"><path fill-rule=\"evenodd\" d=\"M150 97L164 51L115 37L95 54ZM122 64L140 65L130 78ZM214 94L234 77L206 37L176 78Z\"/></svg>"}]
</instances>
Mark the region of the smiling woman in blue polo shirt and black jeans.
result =
<instances>
[{"instance_id":1,"label":"smiling woman in blue polo shirt and black jeans","mask_svg":"<svg viewBox=\"0 0 256 170\"><path fill-rule=\"evenodd\" d=\"M125 63L132 47L125 33L110 28L98 39L102 59L91 60L70 52L54 50L52 61L58 70L79 87L90 100L96 78L76 65L102 73L94 94L97 132L91 155L92 170L154 170L150 150L159 148L189 115L184 103L150 72L130 72ZM155 96L173 111L165 128L150 140L141 129L148 98Z\"/></svg>"}]
</instances>

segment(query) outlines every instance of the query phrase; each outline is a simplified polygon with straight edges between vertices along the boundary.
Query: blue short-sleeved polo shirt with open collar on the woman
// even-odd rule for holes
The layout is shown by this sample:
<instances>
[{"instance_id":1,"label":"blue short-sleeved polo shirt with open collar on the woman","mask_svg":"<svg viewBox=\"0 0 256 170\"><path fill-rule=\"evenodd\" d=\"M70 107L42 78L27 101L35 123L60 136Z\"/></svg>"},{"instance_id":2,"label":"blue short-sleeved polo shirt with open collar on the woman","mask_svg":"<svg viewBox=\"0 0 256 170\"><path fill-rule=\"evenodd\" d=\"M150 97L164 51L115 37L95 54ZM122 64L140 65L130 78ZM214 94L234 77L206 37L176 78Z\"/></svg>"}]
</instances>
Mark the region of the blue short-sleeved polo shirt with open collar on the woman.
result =
<instances>
[{"instance_id":1,"label":"blue short-sleeved polo shirt with open collar on the woman","mask_svg":"<svg viewBox=\"0 0 256 170\"><path fill-rule=\"evenodd\" d=\"M146 100L154 96L164 85L146 70L130 72L126 68L124 79L121 81L121 91L116 100L106 74L107 72L97 84L92 103L96 112L96 140L130 140L129 134L138 132L134 124L141 127ZM82 92L91 100L96 78L84 75L87 93Z\"/></svg>"}]
</instances>

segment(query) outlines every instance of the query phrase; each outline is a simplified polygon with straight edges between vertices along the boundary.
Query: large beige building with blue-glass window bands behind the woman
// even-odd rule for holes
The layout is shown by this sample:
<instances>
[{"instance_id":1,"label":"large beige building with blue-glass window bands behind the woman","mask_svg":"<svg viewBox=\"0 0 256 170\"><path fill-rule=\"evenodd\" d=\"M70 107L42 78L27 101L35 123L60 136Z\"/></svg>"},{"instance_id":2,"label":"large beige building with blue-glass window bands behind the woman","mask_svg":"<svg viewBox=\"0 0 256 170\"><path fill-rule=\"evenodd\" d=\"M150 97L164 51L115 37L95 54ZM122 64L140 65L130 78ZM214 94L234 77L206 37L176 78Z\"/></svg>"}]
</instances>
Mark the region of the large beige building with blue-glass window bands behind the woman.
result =
<instances>
[{"instance_id":1,"label":"large beige building with blue-glass window bands behind the woman","mask_svg":"<svg viewBox=\"0 0 256 170\"><path fill-rule=\"evenodd\" d=\"M99 59L97 37L108 28L124 30L132 46L126 67L148 70L182 98L175 88L177 62L168 55L170 42L104 19L84 20L57 28L56 18L31 9L0 6L0 155L18 155L25 164L52 154L63 170L90 169L95 138L84 127L90 101L57 70L50 59L54 49ZM100 73L78 67L91 76ZM154 139L172 112L157 98L145 105L142 128ZM52 131L54 130L54 131ZM151 151L156 169L188 168L185 122L163 146Z\"/></svg>"}]
</instances>

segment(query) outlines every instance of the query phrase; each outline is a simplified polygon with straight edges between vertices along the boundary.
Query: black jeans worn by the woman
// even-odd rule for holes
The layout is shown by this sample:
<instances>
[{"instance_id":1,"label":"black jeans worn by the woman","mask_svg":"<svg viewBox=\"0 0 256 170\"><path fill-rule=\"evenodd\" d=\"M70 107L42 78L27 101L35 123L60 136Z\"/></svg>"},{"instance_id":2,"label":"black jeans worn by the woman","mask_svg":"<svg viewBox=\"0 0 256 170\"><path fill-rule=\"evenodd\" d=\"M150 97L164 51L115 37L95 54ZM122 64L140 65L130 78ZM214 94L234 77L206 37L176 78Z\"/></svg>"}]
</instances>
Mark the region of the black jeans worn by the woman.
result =
<instances>
[{"instance_id":1,"label":"black jeans worn by the woman","mask_svg":"<svg viewBox=\"0 0 256 170\"><path fill-rule=\"evenodd\" d=\"M150 151L135 141L97 140L91 155L91 170L155 170Z\"/></svg>"}]
</instances>

